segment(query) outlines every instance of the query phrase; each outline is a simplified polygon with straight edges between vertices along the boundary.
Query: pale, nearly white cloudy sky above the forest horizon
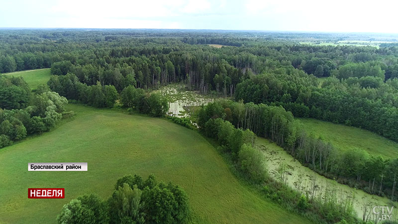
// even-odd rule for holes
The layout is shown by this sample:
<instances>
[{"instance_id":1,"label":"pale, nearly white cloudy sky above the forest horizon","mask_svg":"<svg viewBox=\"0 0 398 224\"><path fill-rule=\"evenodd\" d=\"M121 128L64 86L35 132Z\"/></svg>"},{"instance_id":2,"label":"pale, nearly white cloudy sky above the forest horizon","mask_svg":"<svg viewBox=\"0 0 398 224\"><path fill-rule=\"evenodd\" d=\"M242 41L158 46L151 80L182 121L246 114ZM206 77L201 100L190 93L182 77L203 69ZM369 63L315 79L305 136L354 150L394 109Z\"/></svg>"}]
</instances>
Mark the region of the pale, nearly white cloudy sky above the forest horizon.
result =
<instances>
[{"instance_id":1,"label":"pale, nearly white cloudy sky above the forest horizon","mask_svg":"<svg viewBox=\"0 0 398 224\"><path fill-rule=\"evenodd\" d=\"M396 0L0 0L0 27L398 33Z\"/></svg>"}]
</instances>

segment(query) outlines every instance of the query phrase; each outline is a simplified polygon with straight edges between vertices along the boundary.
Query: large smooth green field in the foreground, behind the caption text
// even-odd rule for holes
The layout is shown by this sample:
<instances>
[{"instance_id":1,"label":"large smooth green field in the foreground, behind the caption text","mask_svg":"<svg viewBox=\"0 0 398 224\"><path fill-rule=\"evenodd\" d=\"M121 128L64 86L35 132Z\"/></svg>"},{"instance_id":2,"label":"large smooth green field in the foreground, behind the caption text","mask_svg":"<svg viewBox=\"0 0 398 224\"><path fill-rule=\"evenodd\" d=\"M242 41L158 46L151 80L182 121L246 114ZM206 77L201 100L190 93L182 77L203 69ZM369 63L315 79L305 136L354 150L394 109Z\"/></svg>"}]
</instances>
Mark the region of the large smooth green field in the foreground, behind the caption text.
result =
<instances>
[{"instance_id":1,"label":"large smooth green field in the foreground, behind the caption text","mask_svg":"<svg viewBox=\"0 0 398 224\"><path fill-rule=\"evenodd\" d=\"M68 105L56 129L0 149L0 223L55 223L71 199L108 198L125 174L155 174L184 188L192 223L286 224L307 220L239 182L198 132L170 121ZM28 172L29 162L88 162L87 172ZM27 188L65 188L65 199L28 199Z\"/></svg>"}]
</instances>

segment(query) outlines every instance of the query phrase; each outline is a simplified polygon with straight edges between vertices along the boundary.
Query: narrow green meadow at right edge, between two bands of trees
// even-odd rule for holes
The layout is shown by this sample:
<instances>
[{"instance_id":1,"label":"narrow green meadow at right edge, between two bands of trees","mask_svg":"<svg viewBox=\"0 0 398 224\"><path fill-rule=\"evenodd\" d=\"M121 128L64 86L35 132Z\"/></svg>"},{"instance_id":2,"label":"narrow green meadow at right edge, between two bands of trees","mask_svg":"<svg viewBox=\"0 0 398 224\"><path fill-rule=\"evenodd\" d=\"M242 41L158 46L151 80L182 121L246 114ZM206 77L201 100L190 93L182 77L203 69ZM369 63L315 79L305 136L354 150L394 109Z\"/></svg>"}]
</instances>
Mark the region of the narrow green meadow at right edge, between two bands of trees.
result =
<instances>
[{"instance_id":1,"label":"narrow green meadow at right edge, between two bands of trees","mask_svg":"<svg viewBox=\"0 0 398 224\"><path fill-rule=\"evenodd\" d=\"M300 118L305 130L315 137L321 136L341 150L361 148L371 155L397 158L398 143L371 131L317 119Z\"/></svg>"}]
</instances>

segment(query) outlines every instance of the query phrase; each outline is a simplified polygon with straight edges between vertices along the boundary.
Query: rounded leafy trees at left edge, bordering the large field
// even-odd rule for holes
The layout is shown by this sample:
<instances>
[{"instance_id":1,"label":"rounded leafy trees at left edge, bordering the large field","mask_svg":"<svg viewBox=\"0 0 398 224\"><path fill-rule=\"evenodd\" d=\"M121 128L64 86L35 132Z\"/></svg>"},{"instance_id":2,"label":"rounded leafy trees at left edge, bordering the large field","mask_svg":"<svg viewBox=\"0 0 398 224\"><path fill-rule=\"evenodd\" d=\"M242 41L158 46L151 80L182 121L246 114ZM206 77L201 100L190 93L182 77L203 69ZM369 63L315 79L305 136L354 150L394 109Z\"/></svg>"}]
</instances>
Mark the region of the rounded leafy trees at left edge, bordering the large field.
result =
<instances>
[{"instance_id":1,"label":"rounded leafy trees at left edge, bordering the large field","mask_svg":"<svg viewBox=\"0 0 398 224\"><path fill-rule=\"evenodd\" d=\"M22 77L0 75L0 148L49 130L62 118L67 103L45 85L32 94Z\"/></svg>"}]
</instances>

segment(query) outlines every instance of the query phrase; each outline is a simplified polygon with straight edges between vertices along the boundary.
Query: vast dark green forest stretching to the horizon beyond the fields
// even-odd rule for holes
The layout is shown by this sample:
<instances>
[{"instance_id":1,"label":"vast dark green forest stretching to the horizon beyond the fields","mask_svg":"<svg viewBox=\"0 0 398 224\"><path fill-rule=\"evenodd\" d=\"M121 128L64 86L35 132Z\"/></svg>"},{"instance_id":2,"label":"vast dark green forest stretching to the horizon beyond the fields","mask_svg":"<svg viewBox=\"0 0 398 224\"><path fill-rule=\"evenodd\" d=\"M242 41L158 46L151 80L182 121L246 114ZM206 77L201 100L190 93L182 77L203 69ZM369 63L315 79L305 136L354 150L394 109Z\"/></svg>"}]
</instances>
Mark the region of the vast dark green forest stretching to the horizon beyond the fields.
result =
<instances>
[{"instance_id":1,"label":"vast dark green forest stretching to the horizon beyond the fields","mask_svg":"<svg viewBox=\"0 0 398 224\"><path fill-rule=\"evenodd\" d=\"M282 106L298 117L361 127L398 141L395 44L382 44L380 48L314 46L298 41L374 37L288 34L1 30L0 72L51 68L55 75L48 82L51 91L96 107L111 107L117 95L129 86L157 89L184 82L189 89L203 94ZM226 46L214 48L208 44ZM12 88L18 92L17 85L5 81L0 85L4 87L0 90L0 108L22 109L24 104L5 105L9 97L5 87L15 86ZM18 93L25 102L24 92Z\"/></svg>"}]
</instances>

